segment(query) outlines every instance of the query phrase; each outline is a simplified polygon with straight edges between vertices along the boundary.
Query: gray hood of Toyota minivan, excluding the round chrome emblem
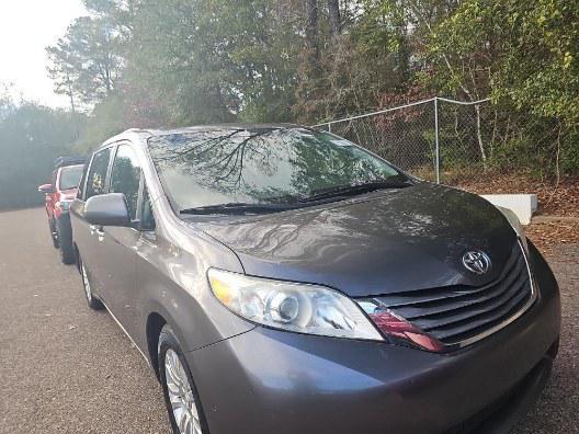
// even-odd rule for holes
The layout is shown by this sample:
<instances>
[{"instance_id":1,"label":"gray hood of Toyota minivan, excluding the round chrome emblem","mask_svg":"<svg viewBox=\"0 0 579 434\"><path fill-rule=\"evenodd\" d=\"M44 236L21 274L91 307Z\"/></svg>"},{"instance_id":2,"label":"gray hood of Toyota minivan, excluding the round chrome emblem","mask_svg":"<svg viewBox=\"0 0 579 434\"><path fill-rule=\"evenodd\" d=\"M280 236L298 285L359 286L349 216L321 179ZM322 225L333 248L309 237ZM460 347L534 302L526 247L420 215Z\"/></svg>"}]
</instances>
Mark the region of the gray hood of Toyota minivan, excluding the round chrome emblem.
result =
<instances>
[{"instance_id":1,"label":"gray hood of Toyota minivan, excluding the round chrome emblem","mask_svg":"<svg viewBox=\"0 0 579 434\"><path fill-rule=\"evenodd\" d=\"M353 297L484 285L498 277L516 241L490 203L430 183L200 227L235 251L247 274ZM483 276L462 262L477 249L491 260Z\"/></svg>"}]
</instances>

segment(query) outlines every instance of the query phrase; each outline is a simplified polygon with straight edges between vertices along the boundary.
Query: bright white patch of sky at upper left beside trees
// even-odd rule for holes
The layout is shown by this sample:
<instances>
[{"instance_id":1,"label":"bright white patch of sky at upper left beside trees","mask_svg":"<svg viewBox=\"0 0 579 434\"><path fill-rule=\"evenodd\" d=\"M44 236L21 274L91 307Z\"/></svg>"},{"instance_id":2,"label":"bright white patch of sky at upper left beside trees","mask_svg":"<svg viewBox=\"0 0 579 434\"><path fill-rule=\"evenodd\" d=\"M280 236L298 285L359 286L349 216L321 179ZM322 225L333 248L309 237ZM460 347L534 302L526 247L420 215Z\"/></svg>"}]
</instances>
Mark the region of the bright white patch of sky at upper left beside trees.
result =
<instances>
[{"instance_id":1,"label":"bright white patch of sky at upper left beside trees","mask_svg":"<svg viewBox=\"0 0 579 434\"><path fill-rule=\"evenodd\" d=\"M16 99L66 107L67 98L53 92L45 47L84 14L81 0L1 0L0 84L12 83Z\"/></svg>"}]
</instances>

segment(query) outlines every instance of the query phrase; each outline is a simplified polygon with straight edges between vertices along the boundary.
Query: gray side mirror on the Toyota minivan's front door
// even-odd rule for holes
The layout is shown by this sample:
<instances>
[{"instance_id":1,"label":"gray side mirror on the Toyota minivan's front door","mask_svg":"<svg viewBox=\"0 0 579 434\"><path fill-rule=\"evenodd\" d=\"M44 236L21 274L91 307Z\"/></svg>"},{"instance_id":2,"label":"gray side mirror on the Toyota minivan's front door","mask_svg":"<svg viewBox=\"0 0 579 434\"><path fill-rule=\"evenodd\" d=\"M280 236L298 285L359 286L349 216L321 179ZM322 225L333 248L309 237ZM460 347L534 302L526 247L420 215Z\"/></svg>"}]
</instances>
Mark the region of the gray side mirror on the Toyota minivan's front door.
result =
<instances>
[{"instance_id":1,"label":"gray side mirror on the Toyota minivan's front door","mask_svg":"<svg viewBox=\"0 0 579 434\"><path fill-rule=\"evenodd\" d=\"M84 219L96 226L130 226L130 217L123 193L90 197L84 204Z\"/></svg>"}]
</instances>

